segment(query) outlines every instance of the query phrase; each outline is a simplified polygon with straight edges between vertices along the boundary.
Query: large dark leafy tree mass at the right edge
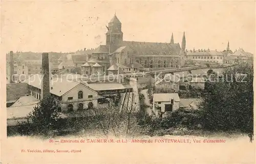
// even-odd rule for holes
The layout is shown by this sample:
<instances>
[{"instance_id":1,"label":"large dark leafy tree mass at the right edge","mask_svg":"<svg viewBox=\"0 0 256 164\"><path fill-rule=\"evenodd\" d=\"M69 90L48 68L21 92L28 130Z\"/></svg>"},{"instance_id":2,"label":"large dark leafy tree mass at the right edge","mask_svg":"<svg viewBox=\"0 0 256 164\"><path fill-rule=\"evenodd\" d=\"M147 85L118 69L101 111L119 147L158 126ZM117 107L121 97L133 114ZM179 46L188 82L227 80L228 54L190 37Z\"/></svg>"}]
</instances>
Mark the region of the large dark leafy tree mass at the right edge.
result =
<instances>
[{"instance_id":1,"label":"large dark leafy tree mass at the right edge","mask_svg":"<svg viewBox=\"0 0 256 164\"><path fill-rule=\"evenodd\" d=\"M208 130L241 131L253 139L253 66L241 63L224 72L224 80L208 86L202 117Z\"/></svg>"}]
</instances>

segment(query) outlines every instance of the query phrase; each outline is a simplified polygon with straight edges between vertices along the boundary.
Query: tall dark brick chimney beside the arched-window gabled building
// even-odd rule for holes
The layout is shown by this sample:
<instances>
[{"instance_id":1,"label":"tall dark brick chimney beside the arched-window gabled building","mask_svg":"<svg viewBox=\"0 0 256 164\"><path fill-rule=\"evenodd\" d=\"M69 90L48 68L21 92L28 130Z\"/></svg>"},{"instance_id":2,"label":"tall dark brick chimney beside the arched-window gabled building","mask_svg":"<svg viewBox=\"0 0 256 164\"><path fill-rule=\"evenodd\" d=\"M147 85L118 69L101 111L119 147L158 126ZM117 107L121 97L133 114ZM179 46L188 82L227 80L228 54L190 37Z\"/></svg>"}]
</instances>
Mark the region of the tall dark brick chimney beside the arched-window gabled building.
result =
<instances>
[{"instance_id":1,"label":"tall dark brick chimney beside the arched-window gabled building","mask_svg":"<svg viewBox=\"0 0 256 164\"><path fill-rule=\"evenodd\" d=\"M50 94L50 71L49 71L49 54L42 53L42 84L41 97L45 98Z\"/></svg>"}]
</instances>

